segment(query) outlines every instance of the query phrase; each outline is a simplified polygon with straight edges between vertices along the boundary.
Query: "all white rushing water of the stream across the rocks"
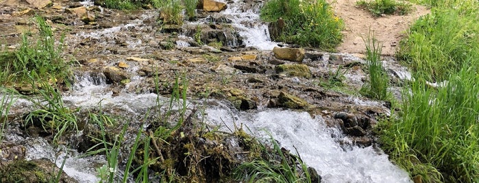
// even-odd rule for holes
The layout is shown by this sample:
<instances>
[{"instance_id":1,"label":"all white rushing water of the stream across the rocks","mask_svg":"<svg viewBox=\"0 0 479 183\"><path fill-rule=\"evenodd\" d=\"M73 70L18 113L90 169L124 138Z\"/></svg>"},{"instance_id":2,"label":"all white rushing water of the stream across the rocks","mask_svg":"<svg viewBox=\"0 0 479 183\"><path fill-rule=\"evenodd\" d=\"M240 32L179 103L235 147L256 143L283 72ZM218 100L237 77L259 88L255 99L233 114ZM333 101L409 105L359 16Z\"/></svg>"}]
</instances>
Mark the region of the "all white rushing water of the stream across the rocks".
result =
<instances>
[{"instance_id":1,"label":"all white rushing water of the stream across the rocks","mask_svg":"<svg viewBox=\"0 0 479 183\"><path fill-rule=\"evenodd\" d=\"M84 5L92 5L92 1L84 1ZM247 4L243 0L229 1L228 8L218 14L232 20L232 26L244 38L245 46L253 46L260 51L271 50L277 42L271 42L267 25L259 20L258 3ZM143 17L149 18L152 15ZM205 19L186 25L204 23ZM109 36L112 33L125 29L138 28L142 20L131 20L130 23L108 29L98 29L93 32L79 32L79 38L96 38ZM140 29L140 28L138 28ZM180 40L191 39L180 35ZM234 39L234 38L233 38ZM128 41L128 40L127 40ZM232 40L234 44L234 40ZM141 40L129 42L129 47L141 45ZM108 43L105 43L107 45ZM189 46L185 42L177 42L178 47ZM139 48L137 48L139 49ZM350 56L353 57L353 56ZM354 58L358 59L359 58ZM138 70L138 68L130 68ZM406 74L404 74L406 73ZM397 72L398 75L410 79L407 72ZM360 80L360 79L356 79ZM140 116L147 109L156 105L157 95L153 93L134 94L127 92L129 87L145 82L143 76L134 76L131 83L118 95L112 95L111 85L102 76L95 76L88 72L79 72L75 76L75 84L69 94L63 96L63 100L71 107L88 109L96 107L99 102L105 108L121 109L126 115ZM167 101L169 98L160 96L160 100ZM356 97L352 102L363 105L380 105L374 101L360 100ZM188 101L189 104L200 103ZM245 126L251 135L260 139L269 139L269 132L273 139L277 140L282 147L295 154L295 150L306 165L314 167L323 182L411 182L406 171L396 167L388 159L388 156L377 147L358 147L347 145L350 142L338 128L328 127L321 115L310 115L303 111L290 109L271 109L259 106L258 109L238 111L231 107L228 101L208 102L204 122L212 126L221 126L221 130L234 129L234 126ZM27 110L28 102L18 100L12 113L23 113ZM193 106L188 105L193 108ZM81 132L80 132L81 133ZM25 157L27 160L46 158L56 163L58 167L65 160L64 171L79 182L99 182L97 168L106 163L104 156L82 156L64 145L53 148L45 139L40 137L19 137L12 132L6 135L5 140L16 141L25 144ZM349 143L350 144L350 143Z\"/></svg>"}]
</instances>

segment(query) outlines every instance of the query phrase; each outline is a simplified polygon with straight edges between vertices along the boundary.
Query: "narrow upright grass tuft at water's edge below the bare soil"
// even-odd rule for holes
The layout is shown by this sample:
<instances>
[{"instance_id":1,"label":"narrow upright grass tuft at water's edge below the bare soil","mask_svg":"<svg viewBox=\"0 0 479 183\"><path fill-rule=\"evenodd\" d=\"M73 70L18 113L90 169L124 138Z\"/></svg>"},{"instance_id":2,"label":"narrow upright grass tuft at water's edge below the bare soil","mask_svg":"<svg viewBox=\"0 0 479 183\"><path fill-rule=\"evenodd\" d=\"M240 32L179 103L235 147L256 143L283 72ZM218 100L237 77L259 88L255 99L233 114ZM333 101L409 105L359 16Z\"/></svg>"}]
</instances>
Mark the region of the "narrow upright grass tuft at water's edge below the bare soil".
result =
<instances>
[{"instance_id":1,"label":"narrow upright grass tuft at water's edge below the bare soil","mask_svg":"<svg viewBox=\"0 0 479 183\"><path fill-rule=\"evenodd\" d=\"M361 92L365 96L377 100L386 100L390 94L388 92L389 77L382 68L381 50L382 44L376 40L375 36L368 36L366 42L366 61L369 71L369 83L366 83Z\"/></svg>"}]
</instances>

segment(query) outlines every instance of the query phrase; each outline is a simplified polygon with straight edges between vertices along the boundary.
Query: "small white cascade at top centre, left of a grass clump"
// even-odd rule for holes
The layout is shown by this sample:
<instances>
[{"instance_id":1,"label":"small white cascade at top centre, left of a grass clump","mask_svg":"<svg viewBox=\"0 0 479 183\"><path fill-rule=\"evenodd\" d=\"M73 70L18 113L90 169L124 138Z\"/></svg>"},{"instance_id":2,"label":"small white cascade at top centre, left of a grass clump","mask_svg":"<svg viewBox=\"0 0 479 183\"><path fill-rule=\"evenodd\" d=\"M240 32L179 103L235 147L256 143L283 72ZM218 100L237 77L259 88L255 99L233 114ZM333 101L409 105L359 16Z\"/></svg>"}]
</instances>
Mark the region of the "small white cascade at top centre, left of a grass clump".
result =
<instances>
[{"instance_id":1,"label":"small white cascade at top centre, left of a grass clump","mask_svg":"<svg viewBox=\"0 0 479 183\"><path fill-rule=\"evenodd\" d=\"M269 38L268 26L262 23L258 14L259 7L256 10L242 10L245 5L243 0L234 0L234 3L228 3L228 8L220 12L231 18L232 25L239 31L244 38L246 46L254 46L259 50L272 50L278 42L272 42Z\"/></svg>"}]
</instances>

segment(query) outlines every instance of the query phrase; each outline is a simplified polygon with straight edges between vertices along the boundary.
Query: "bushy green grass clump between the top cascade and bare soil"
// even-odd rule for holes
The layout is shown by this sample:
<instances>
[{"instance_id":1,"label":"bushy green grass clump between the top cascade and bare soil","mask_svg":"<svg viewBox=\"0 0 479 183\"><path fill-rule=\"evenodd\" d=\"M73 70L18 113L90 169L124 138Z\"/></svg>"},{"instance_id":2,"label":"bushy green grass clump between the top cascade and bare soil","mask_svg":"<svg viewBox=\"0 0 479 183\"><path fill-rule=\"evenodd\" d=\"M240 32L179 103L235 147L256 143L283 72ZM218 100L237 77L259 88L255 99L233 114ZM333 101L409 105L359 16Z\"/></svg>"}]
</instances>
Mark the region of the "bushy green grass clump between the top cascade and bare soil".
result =
<instances>
[{"instance_id":1,"label":"bushy green grass clump between the top cascade and bare soil","mask_svg":"<svg viewBox=\"0 0 479 183\"><path fill-rule=\"evenodd\" d=\"M271 0L260 12L262 20L284 20L279 41L334 50L343 38L343 20L325 0Z\"/></svg>"}]
</instances>

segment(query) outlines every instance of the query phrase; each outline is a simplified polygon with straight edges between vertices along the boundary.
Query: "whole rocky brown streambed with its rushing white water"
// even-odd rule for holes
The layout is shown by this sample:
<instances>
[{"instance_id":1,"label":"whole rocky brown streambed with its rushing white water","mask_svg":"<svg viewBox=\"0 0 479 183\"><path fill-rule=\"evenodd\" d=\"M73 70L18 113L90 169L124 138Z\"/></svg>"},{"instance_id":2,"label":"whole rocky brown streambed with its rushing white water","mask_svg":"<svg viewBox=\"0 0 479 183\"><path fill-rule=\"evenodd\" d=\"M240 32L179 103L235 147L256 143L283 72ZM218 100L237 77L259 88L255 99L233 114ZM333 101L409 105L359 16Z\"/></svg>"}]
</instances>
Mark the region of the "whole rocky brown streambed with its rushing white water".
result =
<instances>
[{"instance_id":1,"label":"whole rocky brown streambed with its rushing white water","mask_svg":"<svg viewBox=\"0 0 479 183\"><path fill-rule=\"evenodd\" d=\"M158 23L158 10L119 11L77 1L54 1L46 6L30 1L3 1L0 29L5 47L13 50L19 45L21 33L36 31L34 14L45 17L58 36L65 33L64 58L76 64L73 86L64 89L62 96L66 105L79 109L79 121L83 124L79 124L79 134L66 135L54 147L51 135L42 134L40 126L23 125L22 116L32 110L32 104L17 100L0 145L0 169L12 167L11 163L19 160L61 167L65 160L64 171L69 176L64 174L64 182L97 182L95 175L106 163L105 156L75 158L97 143L90 137L99 136L99 127L88 124L88 114L121 116L122 120L111 127L110 138L128 122L125 144L131 146L138 129L158 127L143 117L152 108L168 111L158 103L168 104L175 91L174 83L179 81L184 83L177 89L184 89L188 96L183 113L187 120L181 127L187 138L174 139L182 146L157 150L156 155L214 150L208 152L213 158L205 159L164 155L177 161L189 158L191 162L204 160L208 164L197 170L184 167L188 164L180 166L184 174L202 175L197 180L184 181L219 181L217 178L238 159L247 159L236 155L250 151L248 137L202 136L214 126L228 131L244 124L251 135L267 137L261 132L266 129L288 150L297 147L299 155L305 154L302 157L306 164L315 167L324 182L409 182L407 173L389 163L377 147L373 126L393 109L389 102L369 100L358 94L367 80L362 56L260 39L269 37L267 26L258 21L258 9L252 8L261 3L228 1L226 10L199 10L197 21L178 26ZM247 37L258 33L261 36ZM399 97L399 86L410 75L392 58L384 60L384 65L392 79L391 91ZM29 93L27 87L12 87ZM170 116L170 122L180 117L180 109L181 104L173 107L178 113ZM193 127L199 124L208 128L201 131ZM230 133L235 134L234 130ZM195 134L201 134L201 138ZM125 145L125 151L129 145ZM123 164L127 156L121 154ZM208 171L211 167L217 168Z\"/></svg>"}]
</instances>

